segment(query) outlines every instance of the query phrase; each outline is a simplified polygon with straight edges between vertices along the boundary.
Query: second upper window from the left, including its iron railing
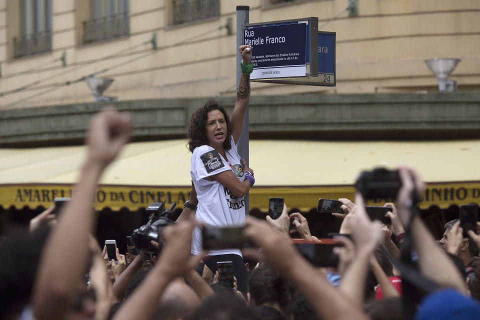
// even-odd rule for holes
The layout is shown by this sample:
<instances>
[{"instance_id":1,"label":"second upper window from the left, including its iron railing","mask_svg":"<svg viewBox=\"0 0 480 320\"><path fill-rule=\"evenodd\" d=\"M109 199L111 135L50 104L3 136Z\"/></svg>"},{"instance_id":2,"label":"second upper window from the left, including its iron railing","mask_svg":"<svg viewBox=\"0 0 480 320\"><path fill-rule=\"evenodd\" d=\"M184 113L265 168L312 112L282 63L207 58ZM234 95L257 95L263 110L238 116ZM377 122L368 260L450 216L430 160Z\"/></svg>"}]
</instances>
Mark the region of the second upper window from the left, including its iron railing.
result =
<instances>
[{"instance_id":1,"label":"second upper window from the left, including its iron railing","mask_svg":"<svg viewBox=\"0 0 480 320\"><path fill-rule=\"evenodd\" d=\"M83 21L83 43L130 33L128 0L90 0L90 19Z\"/></svg>"}]
</instances>

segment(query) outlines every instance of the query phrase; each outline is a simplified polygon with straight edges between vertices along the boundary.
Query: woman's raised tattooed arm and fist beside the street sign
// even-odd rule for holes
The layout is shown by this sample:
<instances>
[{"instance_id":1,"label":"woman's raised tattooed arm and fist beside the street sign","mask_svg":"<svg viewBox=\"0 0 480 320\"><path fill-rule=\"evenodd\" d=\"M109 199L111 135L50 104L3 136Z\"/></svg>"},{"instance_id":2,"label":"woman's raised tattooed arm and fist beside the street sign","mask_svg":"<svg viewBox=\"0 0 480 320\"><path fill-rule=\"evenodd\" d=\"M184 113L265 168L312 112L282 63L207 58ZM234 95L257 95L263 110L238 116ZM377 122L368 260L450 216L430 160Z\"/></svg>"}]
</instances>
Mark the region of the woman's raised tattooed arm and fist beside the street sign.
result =
<instances>
[{"instance_id":1,"label":"woman's raised tattooed arm and fist beside the street sign","mask_svg":"<svg viewBox=\"0 0 480 320\"><path fill-rule=\"evenodd\" d=\"M247 49L248 48L248 49ZM249 45L240 45L238 50L241 53L244 64L251 63L251 50L252 47ZM238 61L240 63L240 61ZM246 106L248 104L248 99L250 98L250 73L245 74L241 73L240 83L238 84L238 89L236 91L236 101L235 107L233 108L233 113L231 114L231 135L233 136L233 141L236 142L240 138L241 127L243 125L243 116L245 115Z\"/></svg>"}]
</instances>

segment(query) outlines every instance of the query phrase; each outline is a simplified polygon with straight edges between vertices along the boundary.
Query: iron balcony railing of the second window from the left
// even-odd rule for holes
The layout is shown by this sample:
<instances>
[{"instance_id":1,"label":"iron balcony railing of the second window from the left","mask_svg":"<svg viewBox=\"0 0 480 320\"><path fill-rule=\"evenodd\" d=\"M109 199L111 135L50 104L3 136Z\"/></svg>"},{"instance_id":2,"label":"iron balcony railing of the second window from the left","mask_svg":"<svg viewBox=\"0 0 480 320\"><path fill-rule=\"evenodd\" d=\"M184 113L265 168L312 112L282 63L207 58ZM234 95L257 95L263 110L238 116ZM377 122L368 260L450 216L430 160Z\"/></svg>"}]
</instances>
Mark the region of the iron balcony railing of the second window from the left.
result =
<instances>
[{"instance_id":1,"label":"iron balcony railing of the second window from the left","mask_svg":"<svg viewBox=\"0 0 480 320\"><path fill-rule=\"evenodd\" d=\"M83 43L103 41L130 33L128 12L83 21Z\"/></svg>"}]
</instances>

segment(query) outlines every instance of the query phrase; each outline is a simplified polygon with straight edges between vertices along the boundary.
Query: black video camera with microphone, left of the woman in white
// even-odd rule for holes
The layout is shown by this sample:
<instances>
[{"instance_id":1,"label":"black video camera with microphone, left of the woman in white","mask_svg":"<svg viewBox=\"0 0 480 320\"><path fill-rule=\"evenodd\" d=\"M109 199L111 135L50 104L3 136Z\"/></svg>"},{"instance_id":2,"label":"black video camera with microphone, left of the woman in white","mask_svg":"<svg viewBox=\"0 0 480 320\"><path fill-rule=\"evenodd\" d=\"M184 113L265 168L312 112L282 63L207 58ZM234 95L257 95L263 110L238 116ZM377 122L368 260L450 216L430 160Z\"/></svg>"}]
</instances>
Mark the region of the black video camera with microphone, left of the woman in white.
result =
<instances>
[{"instance_id":1,"label":"black video camera with microphone, left of the woman in white","mask_svg":"<svg viewBox=\"0 0 480 320\"><path fill-rule=\"evenodd\" d=\"M171 219L171 211L176 203L173 202L170 207L165 210L165 203L158 200L159 198L156 198L156 200L150 203L145 209L145 212L150 214L148 216L148 222L134 229L131 234L131 241L137 251L150 254L156 254L160 251L163 246L163 228L174 223ZM151 244L152 240L156 241L160 247L156 248Z\"/></svg>"}]
</instances>

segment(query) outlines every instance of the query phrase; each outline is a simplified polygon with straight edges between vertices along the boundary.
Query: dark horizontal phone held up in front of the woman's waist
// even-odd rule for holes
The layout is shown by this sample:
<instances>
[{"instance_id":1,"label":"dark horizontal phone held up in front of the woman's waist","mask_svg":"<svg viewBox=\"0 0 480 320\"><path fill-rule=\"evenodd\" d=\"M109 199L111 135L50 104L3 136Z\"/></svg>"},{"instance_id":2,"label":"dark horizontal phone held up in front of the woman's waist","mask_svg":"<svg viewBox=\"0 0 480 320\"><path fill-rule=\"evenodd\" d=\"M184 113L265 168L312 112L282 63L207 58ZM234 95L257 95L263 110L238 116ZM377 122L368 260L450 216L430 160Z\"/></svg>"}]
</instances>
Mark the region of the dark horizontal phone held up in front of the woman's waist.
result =
<instances>
[{"instance_id":1,"label":"dark horizontal phone held up in front of the woman's waist","mask_svg":"<svg viewBox=\"0 0 480 320\"><path fill-rule=\"evenodd\" d=\"M244 226L213 227L205 226L201 229L203 249L218 250L247 247L243 236Z\"/></svg>"}]
</instances>

